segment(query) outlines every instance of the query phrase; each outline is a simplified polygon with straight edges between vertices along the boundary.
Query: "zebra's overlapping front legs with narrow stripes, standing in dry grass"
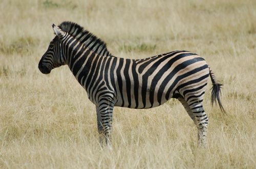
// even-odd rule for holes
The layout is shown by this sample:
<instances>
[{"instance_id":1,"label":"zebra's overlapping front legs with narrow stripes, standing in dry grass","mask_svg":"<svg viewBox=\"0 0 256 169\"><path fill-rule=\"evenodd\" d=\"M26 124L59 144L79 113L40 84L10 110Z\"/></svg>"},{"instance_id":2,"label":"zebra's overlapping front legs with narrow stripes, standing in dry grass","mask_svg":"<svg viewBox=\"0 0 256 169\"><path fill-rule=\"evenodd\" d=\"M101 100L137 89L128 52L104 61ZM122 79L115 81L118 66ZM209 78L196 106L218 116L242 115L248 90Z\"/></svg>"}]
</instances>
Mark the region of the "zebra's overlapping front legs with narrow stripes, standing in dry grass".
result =
<instances>
[{"instance_id":1,"label":"zebra's overlapping front legs with narrow stripes, standing in dry grass","mask_svg":"<svg viewBox=\"0 0 256 169\"><path fill-rule=\"evenodd\" d=\"M111 149L113 106L102 103L96 106L99 143Z\"/></svg>"}]
</instances>

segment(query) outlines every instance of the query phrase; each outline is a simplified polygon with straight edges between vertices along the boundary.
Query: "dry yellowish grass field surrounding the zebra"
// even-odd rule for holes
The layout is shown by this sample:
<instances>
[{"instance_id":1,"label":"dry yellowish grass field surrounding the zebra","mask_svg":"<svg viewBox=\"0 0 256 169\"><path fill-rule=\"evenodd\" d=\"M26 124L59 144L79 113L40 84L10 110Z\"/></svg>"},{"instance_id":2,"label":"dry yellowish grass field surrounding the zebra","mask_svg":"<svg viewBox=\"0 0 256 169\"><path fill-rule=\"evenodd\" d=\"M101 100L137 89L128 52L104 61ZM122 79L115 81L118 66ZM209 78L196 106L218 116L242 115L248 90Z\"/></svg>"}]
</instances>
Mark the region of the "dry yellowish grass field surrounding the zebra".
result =
<instances>
[{"instance_id":1,"label":"dry yellowish grass field surrounding the zebra","mask_svg":"<svg viewBox=\"0 0 256 169\"><path fill-rule=\"evenodd\" d=\"M0 3L0 168L255 168L255 1L9 1ZM117 57L201 55L224 84L204 106L208 147L178 100L115 107L113 150L98 143L95 106L68 66L37 68L52 23L81 24ZM210 81L209 81L210 83ZM208 85L208 89L211 85Z\"/></svg>"}]
</instances>

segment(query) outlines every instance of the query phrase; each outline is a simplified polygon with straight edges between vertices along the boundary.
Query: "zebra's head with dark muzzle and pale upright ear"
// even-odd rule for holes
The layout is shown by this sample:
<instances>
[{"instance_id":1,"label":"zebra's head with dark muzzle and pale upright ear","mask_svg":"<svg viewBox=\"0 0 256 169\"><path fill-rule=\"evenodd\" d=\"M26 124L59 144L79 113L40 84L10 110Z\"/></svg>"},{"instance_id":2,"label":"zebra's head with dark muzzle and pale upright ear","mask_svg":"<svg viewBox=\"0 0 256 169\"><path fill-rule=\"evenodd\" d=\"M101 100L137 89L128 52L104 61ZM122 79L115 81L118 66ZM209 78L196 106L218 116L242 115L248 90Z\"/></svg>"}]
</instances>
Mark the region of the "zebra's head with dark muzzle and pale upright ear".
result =
<instances>
[{"instance_id":1,"label":"zebra's head with dark muzzle and pale upright ear","mask_svg":"<svg viewBox=\"0 0 256 169\"><path fill-rule=\"evenodd\" d=\"M52 24L52 27L56 36L50 42L47 51L42 55L38 64L39 70L44 74L48 74L52 69L67 64L63 55L63 44L61 42L61 39L65 37L67 33L54 24Z\"/></svg>"}]
</instances>

